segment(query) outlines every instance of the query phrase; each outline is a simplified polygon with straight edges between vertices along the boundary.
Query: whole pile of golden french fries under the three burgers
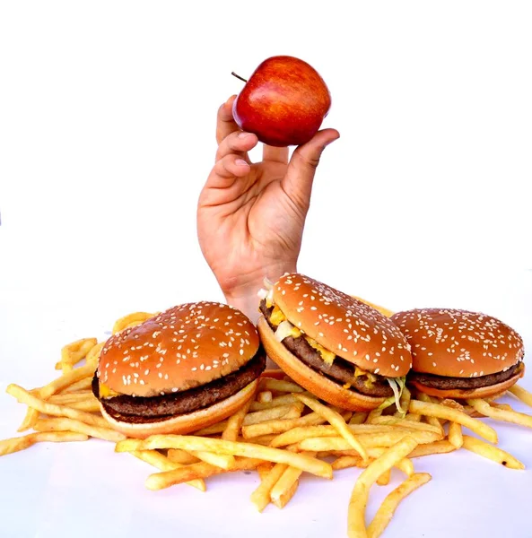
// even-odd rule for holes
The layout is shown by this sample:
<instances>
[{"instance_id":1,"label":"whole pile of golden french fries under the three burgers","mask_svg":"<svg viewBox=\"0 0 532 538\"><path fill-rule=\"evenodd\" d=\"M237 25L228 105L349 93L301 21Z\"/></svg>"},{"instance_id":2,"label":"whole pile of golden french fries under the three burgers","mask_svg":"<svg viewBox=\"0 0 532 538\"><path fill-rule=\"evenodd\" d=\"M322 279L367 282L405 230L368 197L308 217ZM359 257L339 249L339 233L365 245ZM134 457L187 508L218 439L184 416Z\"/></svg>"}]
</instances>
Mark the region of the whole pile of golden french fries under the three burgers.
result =
<instances>
[{"instance_id":1,"label":"whole pile of golden french fries under the three burgers","mask_svg":"<svg viewBox=\"0 0 532 538\"><path fill-rule=\"evenodd\" d=\"M113 333L152 316L136 312L122 317ZM33 431L0 441L0 456L39 442L105 439L116 443L116 452L129 453L157 469L146 479L149 490L186 483L205 491L207 479L216 474L256 471L260 485L250 499L259 511L270 503L283 508L304 473L332 479L342 469L359 467L363 471L347 509L347 534L352 538L382 534L401 500L431 480L429 473L415 472L416 457L464 448L510 469L525 468L496 447L498 437L492 426L476 420L489 417L532 428L532 416L515 412L508 404L494 399L438 399L406 388L401 402L407 409L404 417L394 412L395 407L385 412L349 412L320 403L280 370L266 370L254 398L226 421L192 435L126 438L109 428L92 395L102 347L103 342L95 338L70 343L56 365L61 375L48 385L32 390L7 387L8 394L28 406L19 431ZM532 394L524 388L513 386L509 393L532 407ZM404 479L367 524L371 487L388 484L394 468Z\"/></svg>"}]
</instances>

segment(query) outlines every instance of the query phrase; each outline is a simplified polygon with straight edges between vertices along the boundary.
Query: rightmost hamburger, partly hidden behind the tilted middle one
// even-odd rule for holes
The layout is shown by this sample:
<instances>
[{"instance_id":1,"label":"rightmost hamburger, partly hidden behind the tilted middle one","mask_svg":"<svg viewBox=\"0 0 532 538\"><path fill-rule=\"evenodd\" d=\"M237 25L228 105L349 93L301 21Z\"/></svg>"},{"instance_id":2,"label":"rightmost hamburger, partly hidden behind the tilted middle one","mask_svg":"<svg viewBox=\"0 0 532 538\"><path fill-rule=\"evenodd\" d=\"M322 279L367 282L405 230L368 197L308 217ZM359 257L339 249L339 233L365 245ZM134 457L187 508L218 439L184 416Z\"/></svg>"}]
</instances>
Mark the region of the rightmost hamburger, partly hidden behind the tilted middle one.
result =
<instances>
[{"instance_id":1,"label":"rightmost hamburger, partly hidden behind the tilted middle one","mask_svg":"<svg viewBox=\"0 0 532 538\"><path fill-rule=\"evenodd\" d=\"M427 395L500 395L525 373L521 337L495 317L452 308L414 308L391 319L412 347L408 384Z\"/></svg>"}]
</instances>

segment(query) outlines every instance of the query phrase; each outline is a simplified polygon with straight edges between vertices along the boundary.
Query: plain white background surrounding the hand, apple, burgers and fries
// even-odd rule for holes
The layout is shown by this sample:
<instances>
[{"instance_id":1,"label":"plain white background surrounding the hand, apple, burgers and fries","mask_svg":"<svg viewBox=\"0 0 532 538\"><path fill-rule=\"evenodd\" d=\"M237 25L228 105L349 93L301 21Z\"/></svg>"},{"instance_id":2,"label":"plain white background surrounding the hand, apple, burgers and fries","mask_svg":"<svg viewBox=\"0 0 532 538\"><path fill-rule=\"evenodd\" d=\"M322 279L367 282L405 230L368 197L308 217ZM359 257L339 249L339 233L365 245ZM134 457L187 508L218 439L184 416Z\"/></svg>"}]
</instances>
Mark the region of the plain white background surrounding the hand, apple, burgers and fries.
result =
<instances>
[{"instance_id":1,"label":"plain white background surrounding the hand, apple, burgers and fries","mask_svg":"<svg viewBox=\"0 0 532 538\"><path fill-rule=\"evenodd\" d=\"M319 165L300 271L390 308L487 311L530 348L531 27L528 2L0 4L0 387L46 382L63 343L102 337L126 312L222 299L196 199L216 110L241 88L231 71L276 54L318 69L333 98L324 126L341 133ZM22 415L0 395L0 437ZM532 466L529 435L501 438ZM0 534L72 535L59 520L83 511L79 536L140 536L153 520L162 534L207 533L208 513L221 535L344 533L353 474L256 516L254 478L153 494L143 464L85 445L0 460ZM510 522L527 535L530 474L454 456L420 463L434 474L426 505L412 499L387 535ZM450 527L433 523L442 510Z\"/></svg>"}]
</instances>

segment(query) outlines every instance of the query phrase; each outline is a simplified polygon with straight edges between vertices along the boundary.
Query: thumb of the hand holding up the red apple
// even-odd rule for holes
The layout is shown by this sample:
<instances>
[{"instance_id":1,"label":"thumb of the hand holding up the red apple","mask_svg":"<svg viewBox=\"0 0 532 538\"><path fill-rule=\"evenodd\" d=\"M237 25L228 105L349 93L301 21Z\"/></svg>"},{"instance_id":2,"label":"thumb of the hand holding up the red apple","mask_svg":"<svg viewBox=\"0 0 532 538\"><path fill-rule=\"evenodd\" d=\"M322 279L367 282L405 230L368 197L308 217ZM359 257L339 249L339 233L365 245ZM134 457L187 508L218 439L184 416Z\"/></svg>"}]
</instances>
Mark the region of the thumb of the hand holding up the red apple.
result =
<instances>
[{"instance_id":1,"label":"thumb of the hand holding up the red apple","mask_svg":"<svg viewBox=\"0 0 532 538\"><path fill-rule=\"evenodd\" d=\"M336 129L318 131L308 143L302 144L292 153L281 187L303 214L309 211L312 183L321 153L339 137Z\"/></svg>"}]
</instances>

